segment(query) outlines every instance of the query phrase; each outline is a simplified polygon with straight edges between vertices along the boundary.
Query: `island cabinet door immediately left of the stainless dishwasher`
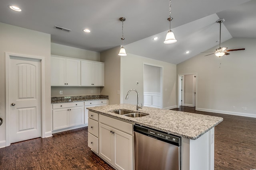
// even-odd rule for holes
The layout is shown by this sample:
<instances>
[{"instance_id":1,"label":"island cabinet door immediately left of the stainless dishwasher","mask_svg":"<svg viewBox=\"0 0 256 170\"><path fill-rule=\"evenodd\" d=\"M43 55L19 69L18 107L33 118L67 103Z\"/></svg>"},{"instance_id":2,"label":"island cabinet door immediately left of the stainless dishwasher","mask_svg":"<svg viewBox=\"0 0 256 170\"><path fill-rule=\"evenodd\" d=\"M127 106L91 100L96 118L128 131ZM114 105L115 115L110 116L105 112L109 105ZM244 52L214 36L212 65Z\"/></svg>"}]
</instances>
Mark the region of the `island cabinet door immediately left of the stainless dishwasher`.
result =
<instances>
[{"instance_id":1,"label":"island cabinet door immediately left of the stainless dishwasher","mask_svg":"<svg viewBox=\"0 0 256 170\"><path fill-rule=\"evenodd\" d=\"M133 138L122 131L114 129L114 162L118 170L133 169Z\"/></svg>"}]
</instances>

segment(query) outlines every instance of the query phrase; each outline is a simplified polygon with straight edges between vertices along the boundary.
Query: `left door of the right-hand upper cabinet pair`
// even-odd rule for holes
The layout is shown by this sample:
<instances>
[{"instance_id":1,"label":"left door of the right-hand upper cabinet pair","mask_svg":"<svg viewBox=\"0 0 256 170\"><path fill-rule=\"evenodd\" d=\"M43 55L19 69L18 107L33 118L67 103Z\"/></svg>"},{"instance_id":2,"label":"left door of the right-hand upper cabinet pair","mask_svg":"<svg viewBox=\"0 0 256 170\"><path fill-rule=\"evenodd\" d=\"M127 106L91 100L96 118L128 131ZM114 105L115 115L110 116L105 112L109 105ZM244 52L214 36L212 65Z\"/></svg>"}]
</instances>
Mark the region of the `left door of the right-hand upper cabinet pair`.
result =
<instances>
[{"instance_id":1,"label":"left door of the right-hand upper cabinet pair","mask_svg":"<svg viewBox=\"0 0 256 170\"><path fill-rule=\"evenodd\" d=\"M92 86L92 62L81 61L81 86Z\"/></svg>"}]
</instances>

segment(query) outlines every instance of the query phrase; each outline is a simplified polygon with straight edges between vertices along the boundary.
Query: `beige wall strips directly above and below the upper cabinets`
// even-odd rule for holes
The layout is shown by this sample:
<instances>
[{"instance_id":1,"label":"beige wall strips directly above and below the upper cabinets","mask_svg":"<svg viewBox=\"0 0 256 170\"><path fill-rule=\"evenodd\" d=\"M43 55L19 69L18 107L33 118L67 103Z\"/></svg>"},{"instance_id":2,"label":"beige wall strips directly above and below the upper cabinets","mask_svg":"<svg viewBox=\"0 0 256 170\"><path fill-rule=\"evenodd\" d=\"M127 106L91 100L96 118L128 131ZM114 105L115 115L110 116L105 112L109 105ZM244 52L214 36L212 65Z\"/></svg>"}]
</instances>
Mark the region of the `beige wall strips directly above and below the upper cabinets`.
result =
<instances>
[{"instance_id":1,"label":"beige wall strips directly above and below the upper cabinets","mask_svg":"<svg viewBox=\"0 0 256 170\"><path fill-rule=\"evenodd\" d=\"M100 61L100 53L51 43L51 54L77 59ZM60 94L60 90L62 94ZM51 87L51 96L79 96L100 94L100 87Z\"/></svg>"}]
</instances>

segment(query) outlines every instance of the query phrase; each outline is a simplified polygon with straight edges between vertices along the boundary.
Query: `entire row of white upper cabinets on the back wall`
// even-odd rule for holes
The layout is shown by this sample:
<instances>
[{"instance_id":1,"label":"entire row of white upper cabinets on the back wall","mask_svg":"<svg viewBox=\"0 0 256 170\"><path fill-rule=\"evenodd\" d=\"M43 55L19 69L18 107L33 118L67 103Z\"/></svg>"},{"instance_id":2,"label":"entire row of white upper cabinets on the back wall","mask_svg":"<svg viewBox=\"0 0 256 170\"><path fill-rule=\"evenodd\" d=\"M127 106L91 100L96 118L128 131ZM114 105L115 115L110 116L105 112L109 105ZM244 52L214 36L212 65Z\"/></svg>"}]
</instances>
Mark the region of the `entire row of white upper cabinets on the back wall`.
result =
<instances>
[{"instance_id":1,"label":"entire row of white upper cabinets on the back wall","mask_svg":"<svg viewBox=\"0 0 256 170\"><path fill-rule=\"evenodd\" d=\"M104 63L52 55L51 86L104 86Z\"/></svg>"}]
</instances>

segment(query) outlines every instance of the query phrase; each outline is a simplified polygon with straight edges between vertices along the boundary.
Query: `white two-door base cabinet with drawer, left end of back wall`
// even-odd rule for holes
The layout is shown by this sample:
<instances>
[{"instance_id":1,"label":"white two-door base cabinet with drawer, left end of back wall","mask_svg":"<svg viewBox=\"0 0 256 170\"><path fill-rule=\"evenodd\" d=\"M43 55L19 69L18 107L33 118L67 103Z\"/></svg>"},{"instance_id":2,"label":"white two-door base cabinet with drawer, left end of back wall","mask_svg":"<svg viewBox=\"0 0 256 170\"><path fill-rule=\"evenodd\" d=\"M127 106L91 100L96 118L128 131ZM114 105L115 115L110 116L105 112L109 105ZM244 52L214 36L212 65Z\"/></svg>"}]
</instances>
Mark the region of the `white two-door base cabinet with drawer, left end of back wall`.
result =
<instances>
[{"instance_id":1,"label":"white two-door base cabinet with drawer, left end of back wall","mask_svg":"<svg viewBox=\"0 0 256 170\"><path fill-rule=\"evenodd\" d=\"M84 102L52 104L52 129L84 125Z\"/></svg>"}]
</instances>

